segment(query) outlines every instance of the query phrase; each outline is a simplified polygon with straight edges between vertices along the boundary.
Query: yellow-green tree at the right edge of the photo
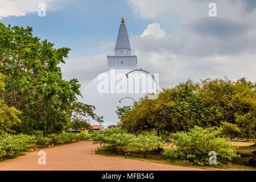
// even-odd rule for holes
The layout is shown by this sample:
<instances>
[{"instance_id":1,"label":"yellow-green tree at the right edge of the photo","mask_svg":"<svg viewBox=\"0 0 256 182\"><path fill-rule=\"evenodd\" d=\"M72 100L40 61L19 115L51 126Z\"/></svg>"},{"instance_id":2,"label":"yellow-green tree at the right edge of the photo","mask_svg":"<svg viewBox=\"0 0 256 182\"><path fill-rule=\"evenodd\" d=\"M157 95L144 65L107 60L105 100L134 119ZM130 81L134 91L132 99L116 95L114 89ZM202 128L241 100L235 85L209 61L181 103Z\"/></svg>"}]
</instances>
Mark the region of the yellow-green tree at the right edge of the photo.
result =
<instances>
[{"instance_id":1,"label":"yellow-green tree at the right edge of the photo","mask_svg":"<svg viewBox=\"0 0 256 182\"><path fill-rule=\"evenodd\" d=\"M202 80L200 96L208 105L208 121L213 126L222 122L232 123L240 129L241 138L256 135L255 84L242 78L236 82L224 80Z\"/></svg>"}]
</instances>

